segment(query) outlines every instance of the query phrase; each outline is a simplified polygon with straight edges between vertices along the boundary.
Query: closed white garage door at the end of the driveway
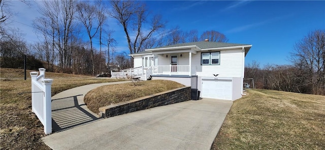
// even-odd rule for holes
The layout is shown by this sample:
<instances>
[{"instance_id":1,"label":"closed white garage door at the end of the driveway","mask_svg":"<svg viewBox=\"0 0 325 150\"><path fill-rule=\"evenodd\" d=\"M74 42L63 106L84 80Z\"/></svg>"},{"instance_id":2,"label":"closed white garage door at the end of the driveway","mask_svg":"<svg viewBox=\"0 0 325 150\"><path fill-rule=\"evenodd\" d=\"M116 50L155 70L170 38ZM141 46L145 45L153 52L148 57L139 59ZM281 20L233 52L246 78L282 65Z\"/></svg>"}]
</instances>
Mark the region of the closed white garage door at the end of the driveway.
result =
<instances>
[{"instance_id":1,"label":"closed white garage door at the end of the driveway","mask_svg":"<svg viewBox=\"0 0 325 150\"><path fill-rule=\"evenodd\" d=\"M202 97L221 100L232 100L232 85L232 80L203 79L201 91Z\"/></svg>"}]
</instances>

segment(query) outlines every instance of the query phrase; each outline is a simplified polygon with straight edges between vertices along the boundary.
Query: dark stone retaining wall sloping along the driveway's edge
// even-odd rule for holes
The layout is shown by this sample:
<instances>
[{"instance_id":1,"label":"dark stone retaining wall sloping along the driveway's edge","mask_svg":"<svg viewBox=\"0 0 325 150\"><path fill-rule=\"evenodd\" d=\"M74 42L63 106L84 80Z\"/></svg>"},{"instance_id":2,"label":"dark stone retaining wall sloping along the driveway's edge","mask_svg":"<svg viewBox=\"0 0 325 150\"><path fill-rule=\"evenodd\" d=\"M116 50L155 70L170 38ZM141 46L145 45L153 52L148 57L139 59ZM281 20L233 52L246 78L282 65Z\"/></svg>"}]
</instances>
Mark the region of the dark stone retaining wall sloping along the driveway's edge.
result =
<instances>
[{"instance_id":1,"label":"dark stone retaining wall sloping along the driveway's edge","mask_svg":"<svg viewBox=\"0 0 325 150\"><path fill-rule=\"evenodd\" d=\"M144 110L156 106L169 105L191 99L191 87L185 86L154 95L121 102L118 104L99 108L104 117L116 116L124 113Z\"/></svg>"}]
</instances>

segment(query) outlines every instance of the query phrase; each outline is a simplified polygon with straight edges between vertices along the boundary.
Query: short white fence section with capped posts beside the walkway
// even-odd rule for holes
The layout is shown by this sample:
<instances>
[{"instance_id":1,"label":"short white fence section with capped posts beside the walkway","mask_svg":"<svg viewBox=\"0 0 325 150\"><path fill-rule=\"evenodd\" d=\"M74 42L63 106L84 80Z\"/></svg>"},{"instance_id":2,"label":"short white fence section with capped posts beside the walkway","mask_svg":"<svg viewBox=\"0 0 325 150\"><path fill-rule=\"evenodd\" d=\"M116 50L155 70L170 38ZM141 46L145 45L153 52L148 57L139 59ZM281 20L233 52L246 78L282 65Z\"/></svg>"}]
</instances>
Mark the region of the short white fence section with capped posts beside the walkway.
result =
<instances>
[{"instance_id":1,"label":"short white fence section with capped posts beside the walkway","mask_svg":"<svg viewBox=\"0 0 325 150\"><path fill-rule=\"evenodd\" d=\"M52 133L51 85L52 79L45 79L45 70L30 72L31 76L31 111L34 112L44 126L45 134Z\"/></svg>"}]
</instances>

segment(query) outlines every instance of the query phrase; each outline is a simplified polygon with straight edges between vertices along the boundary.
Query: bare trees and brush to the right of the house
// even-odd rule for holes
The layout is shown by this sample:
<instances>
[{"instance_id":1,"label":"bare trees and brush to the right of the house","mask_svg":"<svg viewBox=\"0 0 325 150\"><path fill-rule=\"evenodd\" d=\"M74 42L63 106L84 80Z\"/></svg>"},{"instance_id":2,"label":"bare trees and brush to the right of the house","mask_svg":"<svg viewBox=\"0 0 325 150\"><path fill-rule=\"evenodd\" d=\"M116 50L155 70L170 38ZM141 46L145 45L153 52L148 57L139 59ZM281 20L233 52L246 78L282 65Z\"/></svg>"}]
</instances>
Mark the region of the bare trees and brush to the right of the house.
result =
<instances>
[{"instance_id":1,"label":"bare trees and brush to the right of the house","mask_svg":"<svg viewBox=\"0 0 325 150\"><path fill-rule=\"evenodd\" d=\"M253 78L255 88L325 95L325 31L310 32L298 41L289 59L291 65L264 68L253 61L245 67L245 78Z\"/></svg>"}]
</instances>

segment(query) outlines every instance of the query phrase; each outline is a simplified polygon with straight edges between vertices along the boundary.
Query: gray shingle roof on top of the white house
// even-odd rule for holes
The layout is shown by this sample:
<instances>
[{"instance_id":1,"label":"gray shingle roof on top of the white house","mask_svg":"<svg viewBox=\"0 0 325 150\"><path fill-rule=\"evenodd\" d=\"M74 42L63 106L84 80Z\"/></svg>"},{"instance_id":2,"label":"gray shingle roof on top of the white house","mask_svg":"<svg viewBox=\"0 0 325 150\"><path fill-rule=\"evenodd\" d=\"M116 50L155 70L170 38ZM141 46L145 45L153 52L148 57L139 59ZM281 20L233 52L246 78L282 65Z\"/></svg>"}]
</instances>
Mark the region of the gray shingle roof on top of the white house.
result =
<instances>
[{"instance_id":1,"label":"gray shingle roof on top of the white house","mask_svg":"<svg viewBox=\"0 0 325 150\"><path fill-rule=\"evenodd\" d=\"M201 41L201 42L190 42L190 43L174 44L174 45L168 45L168 46L157 47L157 48L194 46L194 45L198 46L201 49L206 49L206 48L218 48L218 47L244 46L244 45L250 45L250 44L235 44L235 43Z\"/></svg>"}]
</instances>

